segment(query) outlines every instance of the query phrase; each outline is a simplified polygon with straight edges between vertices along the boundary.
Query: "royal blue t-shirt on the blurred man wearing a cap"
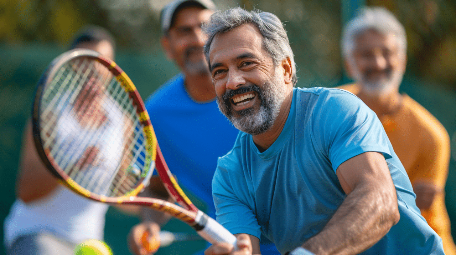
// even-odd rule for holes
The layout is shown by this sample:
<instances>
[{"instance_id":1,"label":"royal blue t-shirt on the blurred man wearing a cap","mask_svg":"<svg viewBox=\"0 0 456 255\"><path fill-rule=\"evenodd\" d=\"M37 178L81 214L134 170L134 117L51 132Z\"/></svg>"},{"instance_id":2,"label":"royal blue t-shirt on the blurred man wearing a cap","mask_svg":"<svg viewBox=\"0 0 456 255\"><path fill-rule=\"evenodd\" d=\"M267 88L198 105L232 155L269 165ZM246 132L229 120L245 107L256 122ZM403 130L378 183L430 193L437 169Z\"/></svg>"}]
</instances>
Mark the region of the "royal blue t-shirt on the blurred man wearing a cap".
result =
<instances>
[{"instance_id":1,"label":"royal blue t-shirt on the blurred man wearing a cap","mask_svg":"<svg viewBox=\"0 0 456 255\"><path fill-rule=\"evenodd\" d=\"M239 130L218 110L215 99L194 101L181 74L154 92L145 107L163 157L179 185L207 204L207 214L215 219L212 176L217 158L233 148ZM263 254L279 254L266 242L269 244L261 247Z\"/></svg>"}]
</instances>

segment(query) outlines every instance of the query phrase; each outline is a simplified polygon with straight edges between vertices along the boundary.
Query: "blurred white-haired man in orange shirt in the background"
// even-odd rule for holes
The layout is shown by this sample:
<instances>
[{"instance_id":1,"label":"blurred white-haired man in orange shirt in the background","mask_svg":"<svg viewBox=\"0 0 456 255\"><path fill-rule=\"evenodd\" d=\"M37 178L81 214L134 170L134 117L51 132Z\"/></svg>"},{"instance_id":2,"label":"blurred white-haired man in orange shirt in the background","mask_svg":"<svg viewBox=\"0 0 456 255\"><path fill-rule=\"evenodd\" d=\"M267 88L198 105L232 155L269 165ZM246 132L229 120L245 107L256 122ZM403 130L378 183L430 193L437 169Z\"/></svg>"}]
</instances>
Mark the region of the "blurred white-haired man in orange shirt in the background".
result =
<instances>
[{"instance_id":1,"label":"blurred white-haired man in orange shirt in the background","mask_svg":"<svg viewBox=\"0 0 456 255\"><path fill-rule=\"evenodd\" d=\"M392 13L383 7L362 9L342 35L345 66L356 83L339 88L377 114L409 175L421 214L442 238L445 253L456 255L444 194L450 138L430 112L399 93L406 51L404 27Z\"/></svg>"}]
</instances>

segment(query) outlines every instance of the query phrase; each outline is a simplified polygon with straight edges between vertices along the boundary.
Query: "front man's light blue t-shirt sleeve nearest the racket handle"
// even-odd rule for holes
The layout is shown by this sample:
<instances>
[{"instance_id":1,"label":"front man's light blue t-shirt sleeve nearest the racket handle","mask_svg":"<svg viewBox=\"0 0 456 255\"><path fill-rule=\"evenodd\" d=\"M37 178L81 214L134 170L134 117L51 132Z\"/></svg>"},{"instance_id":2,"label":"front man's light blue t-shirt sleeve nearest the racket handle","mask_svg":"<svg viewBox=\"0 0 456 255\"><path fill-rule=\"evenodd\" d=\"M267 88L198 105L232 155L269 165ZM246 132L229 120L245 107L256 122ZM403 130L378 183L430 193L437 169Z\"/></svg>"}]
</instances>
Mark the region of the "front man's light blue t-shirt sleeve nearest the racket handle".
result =
<instances>
[{"instance_id":1,"label":"front man's light blue t-shirt sleeve nearest the racket handle","mask_svg":"<svg viewBox=\"0 0 456 255\"><path fill-rule=\"evenodd\" d=\"M217 221L232 234L245 233L260 238L260 226L254 211L247 206L245 200L238 197L248 189L243 184L245 178L236 174L233 169L228 170L221 159L218 159L217 170L212 179L212 197L216 209Z\"/></svg>"}]
</instances>

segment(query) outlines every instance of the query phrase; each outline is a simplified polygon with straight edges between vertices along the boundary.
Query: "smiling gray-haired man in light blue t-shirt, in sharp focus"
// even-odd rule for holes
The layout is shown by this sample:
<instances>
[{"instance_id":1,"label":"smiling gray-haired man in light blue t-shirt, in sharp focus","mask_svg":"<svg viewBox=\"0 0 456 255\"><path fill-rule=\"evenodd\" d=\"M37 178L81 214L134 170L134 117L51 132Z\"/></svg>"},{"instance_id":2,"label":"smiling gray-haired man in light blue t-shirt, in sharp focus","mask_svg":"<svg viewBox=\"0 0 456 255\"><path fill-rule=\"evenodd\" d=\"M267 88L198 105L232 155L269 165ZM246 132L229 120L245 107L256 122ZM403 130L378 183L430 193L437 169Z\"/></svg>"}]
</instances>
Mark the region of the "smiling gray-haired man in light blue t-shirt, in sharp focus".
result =
<instances>
[{"instance_id":1,"label":"smiling gray-haired man in light blue t-shirt, in sharp focus","mask_svg":"<svg viewBox=\"0 0 456 255\"><path fill-rule=\"evenodd\" d=\"M241 130L212 180L238 250L206 255L259 254L261 234L281 254L444 254L375 113L341 89L294 87L277 16L235 7L202 29L218 107Z\"/></svg>"}]
</instances>

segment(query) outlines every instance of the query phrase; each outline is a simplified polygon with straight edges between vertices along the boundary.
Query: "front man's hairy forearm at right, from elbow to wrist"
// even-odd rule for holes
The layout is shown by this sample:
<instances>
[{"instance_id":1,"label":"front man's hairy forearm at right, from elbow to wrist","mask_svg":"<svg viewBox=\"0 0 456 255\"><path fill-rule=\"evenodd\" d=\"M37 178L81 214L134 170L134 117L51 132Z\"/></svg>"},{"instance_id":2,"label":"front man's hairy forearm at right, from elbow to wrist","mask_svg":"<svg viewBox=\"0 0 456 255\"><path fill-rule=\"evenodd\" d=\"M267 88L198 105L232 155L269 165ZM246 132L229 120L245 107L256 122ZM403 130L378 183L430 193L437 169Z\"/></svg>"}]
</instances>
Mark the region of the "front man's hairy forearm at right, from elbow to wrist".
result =
<instances>
[{"instance_id":1,"label":"front man's hairy forearm at right, from elbow to wrist","mask_svg":"<svg viewBox=\"0 0 456 255\"><path fill-rule=\"evenodd\" d=\"M353 190L323 230L302 245L316 255L358 254L398 222L397 198L383 187Z\"/></svg>"}]
</instances>

